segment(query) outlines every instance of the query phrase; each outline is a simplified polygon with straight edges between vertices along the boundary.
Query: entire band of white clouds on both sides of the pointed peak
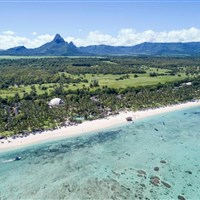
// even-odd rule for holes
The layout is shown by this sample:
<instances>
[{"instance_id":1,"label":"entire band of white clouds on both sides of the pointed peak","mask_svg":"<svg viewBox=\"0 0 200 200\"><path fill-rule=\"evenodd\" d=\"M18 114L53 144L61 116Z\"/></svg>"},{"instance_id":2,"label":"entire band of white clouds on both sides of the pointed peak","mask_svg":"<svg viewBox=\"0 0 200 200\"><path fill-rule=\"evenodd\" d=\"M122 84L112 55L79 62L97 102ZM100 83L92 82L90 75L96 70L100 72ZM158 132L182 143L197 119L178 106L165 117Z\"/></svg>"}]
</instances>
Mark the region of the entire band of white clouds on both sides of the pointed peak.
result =
<instances>
[{"instance_id":1,"label":"entire band of white clouds on both sides of the pointed peak","mask_svg":"<svg viewBox=\"0 0 200 200\"><path fill-rule=\"evenodd\" d=\"M37 35L33 32L34 39L16 35L13 31L4 31L0 34L0 49L7 49L15 46L24 45L27 48L39 47L51 41L54 35ZM115 36L99 31L91 31L85 38L66 37L66 41L73 41L77 46L107 44L113 46L132 46L142 42L200 42L200 29L190 28L182 30L156 32L146 30L138 32L134 29L121 29Z\"/></svg>"}]
</instances>

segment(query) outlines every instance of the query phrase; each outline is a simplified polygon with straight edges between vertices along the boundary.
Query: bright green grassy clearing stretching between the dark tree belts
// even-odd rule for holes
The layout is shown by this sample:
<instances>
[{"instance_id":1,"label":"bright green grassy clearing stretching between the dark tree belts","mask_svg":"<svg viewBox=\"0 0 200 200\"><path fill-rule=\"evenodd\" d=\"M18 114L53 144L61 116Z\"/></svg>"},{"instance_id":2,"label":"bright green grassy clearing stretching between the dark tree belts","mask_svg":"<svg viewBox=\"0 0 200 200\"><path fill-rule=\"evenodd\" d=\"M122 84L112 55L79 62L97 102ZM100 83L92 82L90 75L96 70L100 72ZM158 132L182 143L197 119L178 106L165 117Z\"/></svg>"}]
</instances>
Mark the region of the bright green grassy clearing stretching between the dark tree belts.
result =
<instances>
[{"instance_id":1,"label":"bright green grassy clearing stretching between the dark tree belts","mask_svg":"<svg viewBox=\"0 0 200 200\"><path fill-rule=\"evenodd\" d=\"M129 74L129 78L119 80L123 75L112 75L112 74L86 74L86 75L81 75L83 79L87 79L88 83L80 82L78 84L64 84L65 90L71 89L71 90L76 90L78 88L83 88L83 87L89 87L90 83L93 80L98 80L99 82L99 87L103 86L108 86L110 88L126 88L126 87L137 87L137 86L146 86L146 85L156 85L158 83L166 83L166 82L172 82L172 81L177 81L177 80L182 80L186 78L187 76L185 74L181 74L181 76L170 76L170 75L165 75L165 76L155 76L155 77L150 77L149 72L154 72L155 69L151 68L147 71L146 74L138 74L138 77L135 77L135 74ZM167 70L165 69L159 69L157 73L167 73ZM72 78L78 78L77 75L70 75ZM53 90L54 87L58 86L58 84L42 84L34 85L36 88L37 94L43 94L45 92L49 93L50 91ZM46 87L46 89L42 89L42 87ZM14 96L17 92L19 93L20 96L23 95L24 92L29 93L31 91L31 86L24 86L20 85L19 87L11 86L6 90L0 90L0 97L6 98L9 96Z\"/></svg>"}]
</instances>

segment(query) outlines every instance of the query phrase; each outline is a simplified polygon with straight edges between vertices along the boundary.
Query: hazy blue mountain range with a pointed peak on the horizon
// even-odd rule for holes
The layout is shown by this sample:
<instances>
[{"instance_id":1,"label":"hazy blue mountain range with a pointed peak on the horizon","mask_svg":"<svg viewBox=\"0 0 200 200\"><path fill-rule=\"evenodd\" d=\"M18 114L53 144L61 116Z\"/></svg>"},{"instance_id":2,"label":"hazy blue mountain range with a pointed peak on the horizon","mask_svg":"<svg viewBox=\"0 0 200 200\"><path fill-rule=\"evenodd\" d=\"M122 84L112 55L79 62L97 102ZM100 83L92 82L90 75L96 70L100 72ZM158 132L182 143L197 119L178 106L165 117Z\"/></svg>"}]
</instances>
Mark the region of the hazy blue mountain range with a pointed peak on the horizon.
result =
<instances>
[{"instance_id":1,"label":"hazy blue mountain range with a pointed peak on the horizon","mask_svg":"<svg viewBox=\"0 0 200 200\"><path fill-rule=\"evenodd\" d=\"M27 49L18 46L0 50L0 55L11 56L89 56L89 55L200 55L200 42L187 43L150 43L145 42L135 46L91 45L76 47L73 42L65 40L56 34L51 42L38 48Z\"/></svg>"}]
</instances>

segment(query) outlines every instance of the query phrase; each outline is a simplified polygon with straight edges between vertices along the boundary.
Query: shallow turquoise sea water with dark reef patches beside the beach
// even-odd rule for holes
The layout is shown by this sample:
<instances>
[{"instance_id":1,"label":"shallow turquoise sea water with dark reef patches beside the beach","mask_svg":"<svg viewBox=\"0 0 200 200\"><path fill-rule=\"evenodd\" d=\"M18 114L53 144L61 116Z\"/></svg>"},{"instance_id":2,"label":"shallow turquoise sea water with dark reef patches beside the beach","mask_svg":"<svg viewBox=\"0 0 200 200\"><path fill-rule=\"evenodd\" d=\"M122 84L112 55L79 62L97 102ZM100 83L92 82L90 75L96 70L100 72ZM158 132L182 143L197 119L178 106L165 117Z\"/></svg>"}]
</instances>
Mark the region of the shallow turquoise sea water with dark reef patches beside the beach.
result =
<instances>
[{"instance_id":1,"label":"shallow turquoise sea water with dark reef patches beside the beach","mask_svg":"<svg viewBox=\"0 0 200 200\"><path fill-rule=\"evenodd\" d=\"M0 154L2 200L196 200L199 187L199 107Z\"/></svg>"}]
</instances>

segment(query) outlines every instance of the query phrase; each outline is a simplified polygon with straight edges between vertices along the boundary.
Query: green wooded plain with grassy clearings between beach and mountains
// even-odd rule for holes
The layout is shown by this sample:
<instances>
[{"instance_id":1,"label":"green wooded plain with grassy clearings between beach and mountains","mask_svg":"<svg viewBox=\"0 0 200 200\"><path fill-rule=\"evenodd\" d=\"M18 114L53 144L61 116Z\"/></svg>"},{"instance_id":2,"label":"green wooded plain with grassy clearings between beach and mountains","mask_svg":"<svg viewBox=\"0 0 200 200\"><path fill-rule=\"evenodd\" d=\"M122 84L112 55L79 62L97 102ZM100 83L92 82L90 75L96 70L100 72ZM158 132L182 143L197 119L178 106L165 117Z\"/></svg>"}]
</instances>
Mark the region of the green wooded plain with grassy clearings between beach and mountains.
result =
<instances>
[{"instance_id":1,"label":"green wooded plain with grassy clearings between beach and mountains","mask_svg":"<svg viewBox=\"0 0 200 200\"><path fill-rule=\"evenodd\" d=\"M200 98L200 59L48 57L0 60L0 135L27 134ZM190 84L185 84L190 82ZM55 97L64 105L49 108Z\"/></svg>"}]
</instances>

